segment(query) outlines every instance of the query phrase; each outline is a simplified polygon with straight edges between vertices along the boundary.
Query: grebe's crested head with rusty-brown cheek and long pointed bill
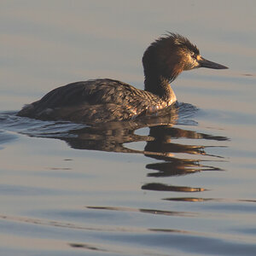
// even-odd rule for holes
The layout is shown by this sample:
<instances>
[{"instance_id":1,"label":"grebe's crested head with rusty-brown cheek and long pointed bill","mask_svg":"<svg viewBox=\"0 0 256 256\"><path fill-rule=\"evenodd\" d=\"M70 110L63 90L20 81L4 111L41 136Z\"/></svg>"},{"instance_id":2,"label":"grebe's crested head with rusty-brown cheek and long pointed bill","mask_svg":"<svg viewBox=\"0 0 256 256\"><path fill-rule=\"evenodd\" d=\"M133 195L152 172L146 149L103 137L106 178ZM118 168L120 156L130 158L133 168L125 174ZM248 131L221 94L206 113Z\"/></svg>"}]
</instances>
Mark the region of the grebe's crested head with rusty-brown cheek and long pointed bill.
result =
<instances>
[{"instance_id":1,"label":"grebe's crested head with rusty-brown cheek and long pointed bill","mask_svg":"<svg viewBox=\"0 0 256 256\"><path fill-rule=\"evenodd\" d=\"M199 67L228 68L203 58L195 44L175 33L168 33L148 47L143 55L143 67L146 77L161 76L170 81L184 70Z\"/></svg>"}]
</instances>

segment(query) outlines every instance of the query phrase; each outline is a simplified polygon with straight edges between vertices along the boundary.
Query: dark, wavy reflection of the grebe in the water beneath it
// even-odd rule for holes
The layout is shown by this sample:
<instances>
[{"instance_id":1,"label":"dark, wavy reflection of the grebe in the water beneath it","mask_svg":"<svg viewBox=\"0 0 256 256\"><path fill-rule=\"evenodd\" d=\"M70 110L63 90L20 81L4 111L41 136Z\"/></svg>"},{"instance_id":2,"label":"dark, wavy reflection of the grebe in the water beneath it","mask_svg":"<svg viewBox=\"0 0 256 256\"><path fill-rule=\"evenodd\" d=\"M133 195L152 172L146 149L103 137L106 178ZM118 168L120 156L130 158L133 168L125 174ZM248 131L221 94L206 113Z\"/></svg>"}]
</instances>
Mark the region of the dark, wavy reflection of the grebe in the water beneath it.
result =
<instances>
[{"instance_id":1,"label":"dark, wavy reflection of the grebe in the water beneath it","mask_svg":"<svg viewBox=\"0 0 256 256\"><path fill-rule=\"evenodd\" d=\"M175 127L177 122L179 125L183 124L180 122L182 121L180 117L183 117L183 112L185 112L186 117L183 120L184 123L188 121L187 108L190 108L190 113L195 112L193 106L188 107L183 104L179 109L170 108L169 115L166 114L165 116L145 116L140 119L91 126L78 125L84 127L75 129L68 129L68 125L76 124L67 124L67 122L47 122L48 125L45 125L45 122L37 121L44 124L41 132L38 132L37 125L36 129L33 128L28 135L61 139L71 148L143 154L157 160L157 162L146 165L148 177L151 178L183 176L205 171L222 171L220 167L216 166L224 161L224 159L220 159L222 156L208 154L205 149L212 147L211 142L224 142L229 139ZM149 133L148 130L145 130L141 135L141 132L137 131L146 127L149 128ZM185 139L188 139L189 143L186 143ZM194 145L191 144L192 140L195 142ZM144 142L144 148L133 148L133 143L136 142ZM206 190L201 187L194 188L155 182L143 184L142 189L175 192L202 192Z\"/></svg>"}]
</instances>

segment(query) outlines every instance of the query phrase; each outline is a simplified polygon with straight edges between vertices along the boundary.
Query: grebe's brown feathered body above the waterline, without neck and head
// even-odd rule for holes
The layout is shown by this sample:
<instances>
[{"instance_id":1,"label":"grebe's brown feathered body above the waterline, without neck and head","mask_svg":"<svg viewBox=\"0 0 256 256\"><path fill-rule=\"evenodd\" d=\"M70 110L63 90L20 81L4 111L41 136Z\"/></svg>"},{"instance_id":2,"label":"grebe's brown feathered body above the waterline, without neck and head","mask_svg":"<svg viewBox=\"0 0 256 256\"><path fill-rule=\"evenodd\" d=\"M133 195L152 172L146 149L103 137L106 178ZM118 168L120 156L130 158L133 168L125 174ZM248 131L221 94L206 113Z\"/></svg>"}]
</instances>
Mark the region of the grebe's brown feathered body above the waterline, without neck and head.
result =
<instances>
[{"instance_id":1,"label":"grebe's brown feathered body above the waterline, without neck and head","mask_svg":"<svg viewBox=\"0 0 256 256\"><path fill-rule=\"evenodd\" d=\"M160 103L154 94L112 79L67 84L26 105L19 116L100 122L131 119Z\"/></svg>"}]
</instances>

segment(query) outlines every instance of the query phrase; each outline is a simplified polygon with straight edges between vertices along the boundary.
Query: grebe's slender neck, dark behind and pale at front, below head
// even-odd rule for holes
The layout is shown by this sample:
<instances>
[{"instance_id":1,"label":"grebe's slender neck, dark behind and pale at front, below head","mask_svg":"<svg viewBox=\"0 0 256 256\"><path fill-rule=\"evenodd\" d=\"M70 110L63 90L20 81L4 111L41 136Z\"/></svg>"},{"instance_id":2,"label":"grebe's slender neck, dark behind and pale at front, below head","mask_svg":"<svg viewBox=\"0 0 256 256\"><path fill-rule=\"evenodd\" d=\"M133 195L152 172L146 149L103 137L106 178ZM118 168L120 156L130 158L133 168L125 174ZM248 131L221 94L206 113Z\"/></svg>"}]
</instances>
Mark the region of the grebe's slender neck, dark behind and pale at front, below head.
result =
<instances>
[{"instance_id":1,"label":"grebe's slender neck, dark behind and pale at front, below head","mask_svg":"<svg viewBox=\"0 0 256 256\"><path fill-rule=\"evenodd\" d=\"M160 96L164 101L174 100L176 96L172 90L170 80L163 76L146 76L145 77L145 90L154 93L156 96Z\"/></svg>"}]
</instances>

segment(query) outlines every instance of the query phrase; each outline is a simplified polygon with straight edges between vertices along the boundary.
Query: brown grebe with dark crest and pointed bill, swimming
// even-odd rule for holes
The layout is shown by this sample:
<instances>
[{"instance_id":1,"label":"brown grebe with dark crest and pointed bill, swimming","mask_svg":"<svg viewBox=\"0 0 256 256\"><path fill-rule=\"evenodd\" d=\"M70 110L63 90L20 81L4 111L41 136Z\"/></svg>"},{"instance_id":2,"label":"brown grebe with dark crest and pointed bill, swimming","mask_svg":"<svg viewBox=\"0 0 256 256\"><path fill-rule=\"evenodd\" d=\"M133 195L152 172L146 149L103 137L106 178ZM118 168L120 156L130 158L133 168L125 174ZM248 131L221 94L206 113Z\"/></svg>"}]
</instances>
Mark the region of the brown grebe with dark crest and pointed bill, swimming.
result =
<instances>
[{"instance_id":1,"label":"brown grebe with dark crest and pointed bill, swimming","mask_svg":"<svg viewBox=\"0 0 256 256\"><path fill-rule=\"evenodd\" d=\"M144 88L113 79L95 79L51 90L17 115L44 120L108 122L155 113L177 101L170 83L183 70L228 68L201 57L188 38L168 33L149 45L143 55Z\"/></svg>"}]
</instances>

